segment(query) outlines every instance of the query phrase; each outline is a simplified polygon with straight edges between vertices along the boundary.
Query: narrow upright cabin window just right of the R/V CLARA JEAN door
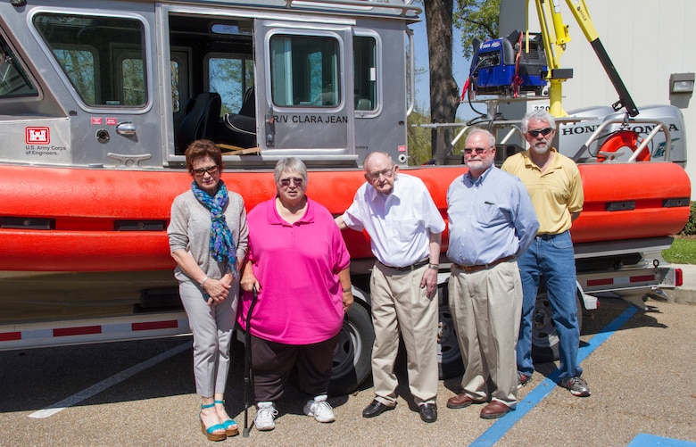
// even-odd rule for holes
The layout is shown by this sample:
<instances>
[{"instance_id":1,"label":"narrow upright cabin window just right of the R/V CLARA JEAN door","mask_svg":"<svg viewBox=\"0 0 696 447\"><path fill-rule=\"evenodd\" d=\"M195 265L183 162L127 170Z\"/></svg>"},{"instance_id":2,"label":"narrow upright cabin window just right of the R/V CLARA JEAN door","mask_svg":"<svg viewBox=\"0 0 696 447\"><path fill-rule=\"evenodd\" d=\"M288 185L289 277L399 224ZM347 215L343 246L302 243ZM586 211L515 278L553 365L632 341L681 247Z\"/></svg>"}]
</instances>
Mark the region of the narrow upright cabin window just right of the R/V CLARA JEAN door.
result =
<instances>
[{"instance_id":1,"label":"narrow upright cabin window just right of the R/V CLARA JEAN door","mask_svg":"<svg viewBox=\"0 0 696 447\"><path fill-rule=\"evenodd\" d=\"M353 88L356 111L377 109L377 42L375 37L352 40Z\"/></svg>"}]
</instances>

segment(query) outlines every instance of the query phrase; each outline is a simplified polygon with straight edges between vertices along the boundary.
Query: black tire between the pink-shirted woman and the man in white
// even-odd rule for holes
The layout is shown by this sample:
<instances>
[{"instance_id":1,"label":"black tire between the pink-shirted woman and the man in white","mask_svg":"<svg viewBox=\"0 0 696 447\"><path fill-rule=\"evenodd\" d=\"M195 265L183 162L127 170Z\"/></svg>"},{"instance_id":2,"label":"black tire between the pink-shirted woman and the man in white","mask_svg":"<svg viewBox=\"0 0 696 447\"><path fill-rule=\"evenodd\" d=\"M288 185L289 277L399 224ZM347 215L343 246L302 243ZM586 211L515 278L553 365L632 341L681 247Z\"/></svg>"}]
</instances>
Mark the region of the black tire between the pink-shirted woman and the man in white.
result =
<instances>
[{"instance_id":1,"label":"black tire between the pink-shirted woman and the man in white","mask_svg":"<svg viewBox=\"0 0 696 447\"><path fill-rule=\"evenodd\" d=\"M369 311L356 300L345 314L344 326L338 334L329 394L352 393L369 377L372 373L370 358L374 341L375 330Z\"/></svg>"}]
</instances>

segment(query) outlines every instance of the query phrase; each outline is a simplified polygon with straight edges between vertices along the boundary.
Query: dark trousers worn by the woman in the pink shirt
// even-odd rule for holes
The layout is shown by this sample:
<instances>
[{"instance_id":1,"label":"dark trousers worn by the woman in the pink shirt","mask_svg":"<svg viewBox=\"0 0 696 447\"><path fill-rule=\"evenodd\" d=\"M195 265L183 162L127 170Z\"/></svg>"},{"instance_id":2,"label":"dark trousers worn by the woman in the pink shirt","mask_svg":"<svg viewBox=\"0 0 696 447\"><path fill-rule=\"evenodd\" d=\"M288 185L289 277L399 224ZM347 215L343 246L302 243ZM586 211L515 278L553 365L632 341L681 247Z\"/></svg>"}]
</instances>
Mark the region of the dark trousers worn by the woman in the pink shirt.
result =
<instances>
[{"instance_id":1,"label":"dark trousers worn by the woman in the pink shirt","mask_svg":"<svg viewBox=\"0 0 696 447\"><path fill-rule=\"evenodd\" d=\"M300 389L326 394L338 335L315 344L280 344L252 335L252 380L256 401L277 401L297 365Z\"/></svg>"}]
</instances>

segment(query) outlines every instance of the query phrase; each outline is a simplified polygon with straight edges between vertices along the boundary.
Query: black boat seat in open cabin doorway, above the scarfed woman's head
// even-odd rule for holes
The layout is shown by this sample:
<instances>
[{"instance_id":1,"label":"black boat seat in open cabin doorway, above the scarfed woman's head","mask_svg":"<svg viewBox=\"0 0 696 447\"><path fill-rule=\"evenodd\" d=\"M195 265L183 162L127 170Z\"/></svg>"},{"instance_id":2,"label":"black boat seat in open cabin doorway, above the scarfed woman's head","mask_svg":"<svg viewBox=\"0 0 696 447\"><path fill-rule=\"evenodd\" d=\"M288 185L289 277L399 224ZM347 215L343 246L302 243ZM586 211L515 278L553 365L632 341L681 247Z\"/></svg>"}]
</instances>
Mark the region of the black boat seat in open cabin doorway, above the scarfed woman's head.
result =
<instances>
[{"instance_id":1,"label":"black boat seat in open cabin doorway, above the scarfed woman's head","mask_svg":"<svg viewBox=\"0 0 696 447\"><path fill-rule=\"evenodd\" d=\"M195 140L214 139L220 123L220 95L203 92L186 103L186 114L178 128L177 153L184 153Z\"/></svg>"}]
</instances>

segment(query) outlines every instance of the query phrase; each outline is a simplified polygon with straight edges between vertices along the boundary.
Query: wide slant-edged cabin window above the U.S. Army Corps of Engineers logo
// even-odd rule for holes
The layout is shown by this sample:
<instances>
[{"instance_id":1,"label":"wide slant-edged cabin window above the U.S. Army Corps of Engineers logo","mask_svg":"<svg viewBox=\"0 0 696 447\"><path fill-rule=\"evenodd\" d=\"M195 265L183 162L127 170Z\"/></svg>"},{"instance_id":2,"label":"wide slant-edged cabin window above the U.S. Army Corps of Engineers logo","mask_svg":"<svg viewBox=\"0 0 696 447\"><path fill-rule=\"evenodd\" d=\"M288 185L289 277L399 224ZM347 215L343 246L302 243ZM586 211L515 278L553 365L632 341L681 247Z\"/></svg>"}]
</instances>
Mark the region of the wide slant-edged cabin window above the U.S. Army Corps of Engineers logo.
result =
<instances>
[{"instance_id":1,"label":"wide slant-edged cabin window above the U.S. Army Corps of Engineers logo","mask_svg":"<svg viewBox=\"0 0 696 447\"><path fill-rule=\"evenodd\" d=\"M145 105L142 22L46 12L34 17L34 26L84 103Z\"/></svg>"}]
</instances>

